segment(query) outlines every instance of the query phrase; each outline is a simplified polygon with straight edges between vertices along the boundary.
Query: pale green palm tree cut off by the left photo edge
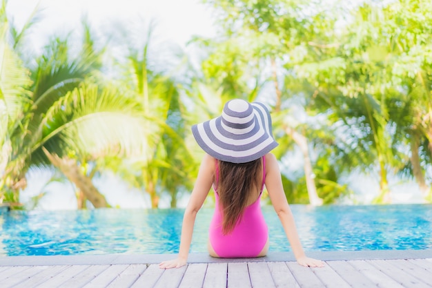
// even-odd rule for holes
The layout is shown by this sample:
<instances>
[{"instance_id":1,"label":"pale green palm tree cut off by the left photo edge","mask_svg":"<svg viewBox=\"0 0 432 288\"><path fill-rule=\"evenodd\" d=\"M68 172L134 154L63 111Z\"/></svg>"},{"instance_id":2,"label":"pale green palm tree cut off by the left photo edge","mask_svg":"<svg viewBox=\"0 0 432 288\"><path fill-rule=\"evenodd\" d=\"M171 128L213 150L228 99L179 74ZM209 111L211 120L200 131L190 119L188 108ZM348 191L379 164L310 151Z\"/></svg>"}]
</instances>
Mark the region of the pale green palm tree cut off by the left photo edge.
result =
<instances>
[{"instance_id":1,"label":"pale green palm tree cut off by the left photo edge","mask_svg":"<svg viewBox=\"0 0 432 288\"><path fill-rule=\"evenodd\" d=\"M21 59L6 41L8 19L6 1L0 10L0 203L19 202L17 189L25 186L22 171L10 166L14 147L19 146L28 128L29 117L25 112L31 108L31 85L29 72Z\"/></svg>"}]
</instances>

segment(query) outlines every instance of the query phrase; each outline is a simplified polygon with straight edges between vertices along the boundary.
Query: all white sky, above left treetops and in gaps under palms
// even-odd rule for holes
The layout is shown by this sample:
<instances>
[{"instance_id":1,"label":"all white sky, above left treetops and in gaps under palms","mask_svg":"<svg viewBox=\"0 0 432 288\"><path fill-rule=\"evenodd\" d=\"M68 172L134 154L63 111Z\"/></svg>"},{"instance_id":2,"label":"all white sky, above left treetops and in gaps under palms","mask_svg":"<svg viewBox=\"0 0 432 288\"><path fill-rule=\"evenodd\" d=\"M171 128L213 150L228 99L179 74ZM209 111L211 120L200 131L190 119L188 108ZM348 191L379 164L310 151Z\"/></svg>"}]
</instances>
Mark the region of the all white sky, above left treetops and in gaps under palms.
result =
<instances>
[{"instance_id":1,"label":"all white sky, above left treetops and in gaps under palms","mask_svg":"<svg viewBox=\"0 0 432 288\"><path fill-rule=\"evenodd\" d=\"M215 34L210 10L199 0L9 0L6 11L14 25L21 29L36 7L39 21L26 39L31 44L28 48L35 50L42 48L53 35L77 33L84 15L96 30L106 30L117 21L134 28L151 20L155 23L153 35L159 42L180 48L186 48L193 35L212 37ZM72 185L53 182L45 186L50 177L52 171L30 171L28 188L21 192L21 202L28 202L32 196L46 192L39 201L39 209L76 209ZM150 199L142 191L131 189L115 175L104 175L95 180L95 185L106 193L113 206L150 207ZM179 202L182 203L186 204ZM168 207L168 200L161 200L161 206Z\"/></svg>"}]
</instances>

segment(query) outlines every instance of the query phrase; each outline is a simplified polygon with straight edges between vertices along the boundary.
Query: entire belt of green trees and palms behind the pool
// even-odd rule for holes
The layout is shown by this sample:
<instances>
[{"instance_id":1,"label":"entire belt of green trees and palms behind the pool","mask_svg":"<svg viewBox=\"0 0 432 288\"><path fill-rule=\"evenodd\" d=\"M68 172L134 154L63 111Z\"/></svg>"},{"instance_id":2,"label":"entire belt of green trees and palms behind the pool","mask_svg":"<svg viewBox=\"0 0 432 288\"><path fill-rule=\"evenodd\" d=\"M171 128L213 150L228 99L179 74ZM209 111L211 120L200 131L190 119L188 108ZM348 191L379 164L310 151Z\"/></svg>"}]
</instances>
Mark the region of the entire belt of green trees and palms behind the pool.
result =
<instances>
[{"instance_id":1,"label":"entire belt of green trees and palms behind the pool","mask_svg":"<svg viewBox=\"0 0 432 288\"><path fill-rule=\"evenodd\" d=\"M175 206L193 186L202 157L190 126L216 117L235 97L272 106L278 159L308 148L317 193L326 204L353 195L341 181L353 170L379 171L377 199L384 202L389 173L431 190L429 1L204 3L217 15L218 35L195 37L205 55L199 70L186 64L187 77L174 77L177 71L155 60L159 47L151 25L129 31L139 44L119 26L113 33L121 35L121 45L108 42L98 49L84 21L76 50L69 36L52 37L34 61L23 61L37 12L17 30L3 1L0 189L8 192L0 201L17 202L14 191L29 167L50 165L44 147L75 157L84 170L92 166L88 173L115 171L149 193L153 207L162 195ZM122 54L104 61L104 52L116 45ZM304 137L304 146L287 131ZM289 202L308 202L311 179L302 167L282 180Z\"/></svg>"}]
</instances>

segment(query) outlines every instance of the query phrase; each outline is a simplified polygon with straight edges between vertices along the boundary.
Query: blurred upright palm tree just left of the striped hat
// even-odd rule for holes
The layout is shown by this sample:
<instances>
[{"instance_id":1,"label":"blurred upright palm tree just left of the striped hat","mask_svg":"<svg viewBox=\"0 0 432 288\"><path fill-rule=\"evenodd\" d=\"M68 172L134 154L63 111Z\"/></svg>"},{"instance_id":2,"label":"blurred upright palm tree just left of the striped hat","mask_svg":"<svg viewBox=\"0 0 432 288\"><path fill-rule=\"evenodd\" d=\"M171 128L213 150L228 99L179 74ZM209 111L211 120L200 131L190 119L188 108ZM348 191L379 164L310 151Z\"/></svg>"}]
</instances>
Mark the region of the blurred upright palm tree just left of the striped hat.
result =
<instances>
[{"instance_id":1,"label":"blurred upright palm tree just left of the striped hat","mask_svg":"<svg viewBox=\"0 0 432 288\"><path fill-rule=\"evenodd\" d=\"M121 27L117 27L121 28ZM150 195L151 207L159 207L161 195L166 192L171 197L171 205L177 204L177 191L181 187L190 188L191 155L184 144L185 126L182 113L180 83L174 70L164 70L158 64L153 52L153 26L144 29L145 37L139 34L139 43L134 41L134 33L115 35L113 46L126 51L115 59L120 71L117 84L125 95L139 102L145 120L146 153L121 167L121 175ZM125 37L125 35L127 35ZM161 52L159 50L159 52ZM135 173L135 171L139 171Z\"/></svg>"}]
</instances>

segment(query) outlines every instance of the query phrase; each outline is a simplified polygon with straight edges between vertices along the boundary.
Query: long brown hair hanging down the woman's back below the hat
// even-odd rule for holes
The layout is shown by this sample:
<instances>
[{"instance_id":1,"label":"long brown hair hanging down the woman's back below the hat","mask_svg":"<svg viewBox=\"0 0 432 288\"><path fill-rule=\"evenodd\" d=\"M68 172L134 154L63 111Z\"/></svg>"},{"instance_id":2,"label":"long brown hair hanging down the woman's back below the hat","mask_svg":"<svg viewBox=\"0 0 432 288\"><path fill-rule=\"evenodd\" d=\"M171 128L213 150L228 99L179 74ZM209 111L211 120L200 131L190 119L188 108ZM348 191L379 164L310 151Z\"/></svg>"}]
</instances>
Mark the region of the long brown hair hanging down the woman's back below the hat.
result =
<instances>
[{"instance_id":1,"label":"long brown hair hanging down the woman's back below the hat","mask_svg":"<svg viewBox=\"0 0 432 288\"><path fill-rule=\"evenodd\" d=\"M246 163L230 163L218 160L219 209L222 209L222 231L224 234L233 231L237 221L248 204L250 193L261 190L259 175L262 174L261 158ZM217 181L217 180L215 180Z\"/></svg>"}]
</instances>

